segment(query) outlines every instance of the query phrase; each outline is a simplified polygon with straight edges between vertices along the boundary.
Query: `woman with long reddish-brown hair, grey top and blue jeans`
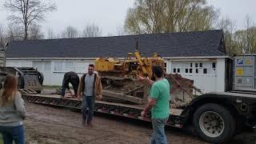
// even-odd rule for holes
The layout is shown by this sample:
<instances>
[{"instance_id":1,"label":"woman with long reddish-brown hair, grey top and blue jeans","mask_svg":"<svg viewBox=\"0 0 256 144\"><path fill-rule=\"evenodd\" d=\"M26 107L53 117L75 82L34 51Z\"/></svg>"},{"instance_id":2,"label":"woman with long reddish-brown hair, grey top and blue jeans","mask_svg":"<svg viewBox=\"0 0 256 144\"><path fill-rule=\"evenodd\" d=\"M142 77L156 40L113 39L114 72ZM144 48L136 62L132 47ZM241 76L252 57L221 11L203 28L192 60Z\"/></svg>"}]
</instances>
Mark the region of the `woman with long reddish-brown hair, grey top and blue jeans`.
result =
<instances>
[{"instance_id":1,"label":"woman with long reddish-brown hair, grey top and blue jeans","mask_svg":"<svg viewBox=\"0 0 256 144\"><path fill-rule=\"evenodd\" d=\"M7 74L0 90L0 133L4 144L25 144L25 103L18 92L18 78Z\"/></svg>"}]
</instances>

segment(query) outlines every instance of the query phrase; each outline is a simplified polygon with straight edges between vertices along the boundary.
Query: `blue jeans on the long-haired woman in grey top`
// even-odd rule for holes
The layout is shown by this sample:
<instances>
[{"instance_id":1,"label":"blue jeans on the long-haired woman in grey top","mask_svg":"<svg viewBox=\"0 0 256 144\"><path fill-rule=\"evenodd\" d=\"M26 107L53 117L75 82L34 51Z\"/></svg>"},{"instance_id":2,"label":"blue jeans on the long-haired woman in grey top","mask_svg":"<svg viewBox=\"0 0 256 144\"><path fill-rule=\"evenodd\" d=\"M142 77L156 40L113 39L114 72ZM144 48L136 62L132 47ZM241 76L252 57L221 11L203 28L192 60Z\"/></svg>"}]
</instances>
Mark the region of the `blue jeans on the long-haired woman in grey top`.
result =
<instances>
[{"instance_id":1,"label":"blue jeans on the long-haired woman in grey top","mask_svg":"<svg viewBox=\"0 0 256 144\"><path fill-rule=\"evenodd\" d=\"M0 133L4 144L25 144L25 129L24 126L0 126Z\"/></svg>"}]
</instances>

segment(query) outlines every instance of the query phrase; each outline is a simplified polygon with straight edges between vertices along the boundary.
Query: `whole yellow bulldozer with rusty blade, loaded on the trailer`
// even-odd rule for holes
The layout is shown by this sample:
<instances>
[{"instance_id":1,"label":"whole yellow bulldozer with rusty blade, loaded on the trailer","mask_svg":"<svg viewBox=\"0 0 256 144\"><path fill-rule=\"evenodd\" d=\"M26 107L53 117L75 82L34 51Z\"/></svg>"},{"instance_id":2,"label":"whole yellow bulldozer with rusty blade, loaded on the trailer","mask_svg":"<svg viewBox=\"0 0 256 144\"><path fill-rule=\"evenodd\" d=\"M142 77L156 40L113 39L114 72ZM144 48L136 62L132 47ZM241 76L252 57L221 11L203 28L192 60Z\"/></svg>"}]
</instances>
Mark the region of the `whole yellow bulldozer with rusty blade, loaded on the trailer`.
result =
<instances>
[{"instance_id":1,"label":"whole yellow bulldozer with rusty blade, loaded on the trailer","mask_svg":"<svg viewBox=\"0 0 256 144\"><path fill-rule=\"evenodd\" d=\"M164 60L156 53L152 58L142 58L142 54L135 50L134 54L128 53L124 59L97 58L95 70L102 78L103 100L145 104L150 86L139 82L137 78L138 75L151 78L154 65L166 70ZM175 106L183 106L192 100L193 92L197 90L192 80L182 78L179 74L166 74L165 78L171 84L170 92Z\"/></svg>"}]
</instances>

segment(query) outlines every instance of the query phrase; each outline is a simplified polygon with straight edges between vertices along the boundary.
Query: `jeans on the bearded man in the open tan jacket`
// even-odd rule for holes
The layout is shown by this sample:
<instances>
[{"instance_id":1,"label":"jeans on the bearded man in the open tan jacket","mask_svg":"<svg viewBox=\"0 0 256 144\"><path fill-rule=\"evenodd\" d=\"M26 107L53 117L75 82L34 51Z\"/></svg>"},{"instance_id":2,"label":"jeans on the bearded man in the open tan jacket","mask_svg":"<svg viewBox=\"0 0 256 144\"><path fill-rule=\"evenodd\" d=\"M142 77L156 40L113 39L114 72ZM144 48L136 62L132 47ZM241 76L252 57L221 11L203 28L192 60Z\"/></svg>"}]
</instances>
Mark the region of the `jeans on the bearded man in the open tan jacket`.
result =
<instances>
[{"instance_id":1,"label":"jeans on the bearded man in the open tan jacket","mask_svg":"<svg viewBox=\"0 0 256 144\"><path fill-rule=\"evenodd\" d=\"M82 96L82 122L89 124L94 115L94 96ZM87 110L88 109L88 110Z\"/></svg>"}]
</instances>

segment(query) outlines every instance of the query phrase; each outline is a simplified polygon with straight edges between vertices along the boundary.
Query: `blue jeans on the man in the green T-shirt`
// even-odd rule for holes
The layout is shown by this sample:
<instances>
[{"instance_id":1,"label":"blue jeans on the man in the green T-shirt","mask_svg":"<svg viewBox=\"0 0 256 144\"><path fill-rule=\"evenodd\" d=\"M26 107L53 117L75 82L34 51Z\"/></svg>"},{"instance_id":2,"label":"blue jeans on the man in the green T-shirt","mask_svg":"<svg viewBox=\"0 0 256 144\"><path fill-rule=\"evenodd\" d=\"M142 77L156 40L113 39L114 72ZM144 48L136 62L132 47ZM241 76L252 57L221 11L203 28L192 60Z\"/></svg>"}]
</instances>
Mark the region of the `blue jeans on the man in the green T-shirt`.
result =
<instances>
[{"instance_id":1,"label":"blue jeans on the man in the green T-shirt","mask_svg":"<svg viewBox=\"0 0 256 144\"><path fill-rule=\"evenodd\" d=\"M153 135L151 144L167 144L165 125L168 118L154 118L152 119Z\"/></svg>"}]
</instances>

